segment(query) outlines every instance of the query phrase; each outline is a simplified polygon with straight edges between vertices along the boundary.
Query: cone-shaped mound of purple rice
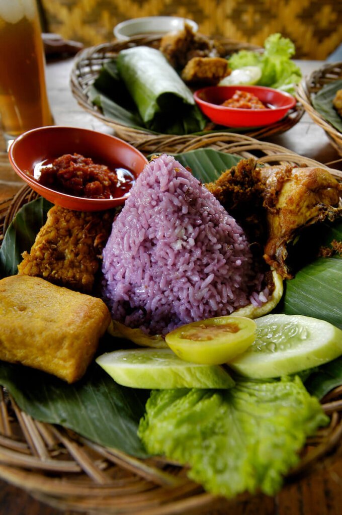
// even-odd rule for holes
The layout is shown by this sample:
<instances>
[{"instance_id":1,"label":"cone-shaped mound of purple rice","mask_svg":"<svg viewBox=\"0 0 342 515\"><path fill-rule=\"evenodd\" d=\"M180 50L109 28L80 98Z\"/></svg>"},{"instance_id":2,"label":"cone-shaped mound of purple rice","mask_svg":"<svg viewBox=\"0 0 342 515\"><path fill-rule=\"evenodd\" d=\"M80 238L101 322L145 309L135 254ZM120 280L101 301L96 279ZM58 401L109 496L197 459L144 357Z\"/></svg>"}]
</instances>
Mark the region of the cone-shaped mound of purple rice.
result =
<instances>
[{"instance_id":1,"label":"cone-shaped mound of purple rice","mask_svg":"<svg viewBox=\"0 0 342 515\"><path fill-rule=\"evenodd\" d=\"M145 166L103 258L113 319L150 334L267 301L242 228L171 156Z\"/></svg>"}]
</instances>

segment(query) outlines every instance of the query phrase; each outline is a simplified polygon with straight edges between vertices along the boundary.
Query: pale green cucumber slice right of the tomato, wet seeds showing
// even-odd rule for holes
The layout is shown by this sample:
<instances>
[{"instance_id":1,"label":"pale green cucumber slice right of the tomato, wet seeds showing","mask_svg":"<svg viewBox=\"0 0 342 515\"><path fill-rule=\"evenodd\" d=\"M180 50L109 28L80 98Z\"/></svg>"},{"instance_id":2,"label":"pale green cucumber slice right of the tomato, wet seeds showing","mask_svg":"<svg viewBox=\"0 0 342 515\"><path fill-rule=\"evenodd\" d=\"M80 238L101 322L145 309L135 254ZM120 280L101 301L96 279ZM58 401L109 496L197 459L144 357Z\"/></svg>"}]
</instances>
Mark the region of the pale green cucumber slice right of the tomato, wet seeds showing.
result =
<instances>
[{"instance_id":1,"label":"pale green cucumber slice right of the tomato, wet seeds showing","mask_svg":"<svg viewBox=\"0 0 342 515\"><path fill-rule=\"evenodd\" d=\"M324 320L279 314L255 322L255 341L229 363L241 375L280 377L317 367L342 354L342 331Z\"/></svg>"}]
</instances>

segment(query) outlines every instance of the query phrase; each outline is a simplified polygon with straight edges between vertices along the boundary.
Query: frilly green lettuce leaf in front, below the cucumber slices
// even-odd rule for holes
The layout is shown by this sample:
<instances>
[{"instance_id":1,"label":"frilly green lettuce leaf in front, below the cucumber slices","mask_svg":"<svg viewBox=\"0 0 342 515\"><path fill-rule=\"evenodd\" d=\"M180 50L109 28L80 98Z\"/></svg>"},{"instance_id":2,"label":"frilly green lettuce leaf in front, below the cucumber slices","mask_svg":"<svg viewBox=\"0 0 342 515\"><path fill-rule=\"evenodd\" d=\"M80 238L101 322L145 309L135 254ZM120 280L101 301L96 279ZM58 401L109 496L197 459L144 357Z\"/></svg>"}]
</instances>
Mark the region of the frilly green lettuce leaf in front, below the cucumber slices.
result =
<instances>
[{"instance_id":1,"label":"frilly green lettuce leaf in front, below the cucumber slices","mask_svg":"<svg viewBox=\"0 0 342 515\"><path fill-rule=\"evenodd\" d=\"M214 494L275 494L307 436L329 419L298 376L230 390L152 391L139 425L148 453L190 465Z\"/></svg>"}]
</instances>

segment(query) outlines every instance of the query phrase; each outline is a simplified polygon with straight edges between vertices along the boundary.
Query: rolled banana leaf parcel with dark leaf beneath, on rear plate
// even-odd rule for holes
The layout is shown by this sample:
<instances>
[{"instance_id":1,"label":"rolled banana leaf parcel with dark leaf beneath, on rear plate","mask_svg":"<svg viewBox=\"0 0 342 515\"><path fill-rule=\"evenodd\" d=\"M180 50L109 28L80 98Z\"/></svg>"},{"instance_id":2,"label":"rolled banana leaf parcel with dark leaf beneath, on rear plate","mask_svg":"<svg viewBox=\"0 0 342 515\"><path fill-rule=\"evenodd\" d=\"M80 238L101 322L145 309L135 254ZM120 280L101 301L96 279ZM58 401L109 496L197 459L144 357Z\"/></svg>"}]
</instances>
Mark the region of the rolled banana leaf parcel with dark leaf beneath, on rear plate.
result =
<instances>
[{"instance_id":1,"label":"rolled banana leaf parcel with dark leaf beneath, on rear plate","mask_svg":"<svg viewBox=\"0 0 342 515\"><path fill-rule=\"evenodd\" d=\"M88 96L105 116L135 129L181 135L207 124L174 68L147 46L122 50L106 63Z\"/></svg>"}]
</instances>

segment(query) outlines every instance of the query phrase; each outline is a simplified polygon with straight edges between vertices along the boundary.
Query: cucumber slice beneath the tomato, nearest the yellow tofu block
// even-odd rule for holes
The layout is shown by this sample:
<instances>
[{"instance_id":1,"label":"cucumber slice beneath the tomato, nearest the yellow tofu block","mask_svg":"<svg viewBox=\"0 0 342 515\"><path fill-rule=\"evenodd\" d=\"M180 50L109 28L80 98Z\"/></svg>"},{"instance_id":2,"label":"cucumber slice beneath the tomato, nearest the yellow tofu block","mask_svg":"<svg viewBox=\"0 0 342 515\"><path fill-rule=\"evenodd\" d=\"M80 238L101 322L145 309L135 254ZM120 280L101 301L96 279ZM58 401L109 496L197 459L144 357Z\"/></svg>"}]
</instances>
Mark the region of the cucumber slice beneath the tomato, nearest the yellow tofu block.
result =
<instances>
[{"instance_id":1,"label":"cucumber slice beneath the tomato, nearest the yellow tofu block","mask_svg":"<svg viewBox=\"0 0 342 515\"><path fill-rule=\"evenodd\" d=\"M96 359L116 383L131 388L219 388L234 386L219 365L198 365L179 359L170 349L130 349L102 354Z\"/></svg>"}]
</instances>

